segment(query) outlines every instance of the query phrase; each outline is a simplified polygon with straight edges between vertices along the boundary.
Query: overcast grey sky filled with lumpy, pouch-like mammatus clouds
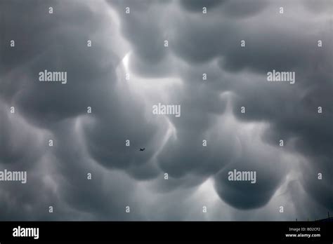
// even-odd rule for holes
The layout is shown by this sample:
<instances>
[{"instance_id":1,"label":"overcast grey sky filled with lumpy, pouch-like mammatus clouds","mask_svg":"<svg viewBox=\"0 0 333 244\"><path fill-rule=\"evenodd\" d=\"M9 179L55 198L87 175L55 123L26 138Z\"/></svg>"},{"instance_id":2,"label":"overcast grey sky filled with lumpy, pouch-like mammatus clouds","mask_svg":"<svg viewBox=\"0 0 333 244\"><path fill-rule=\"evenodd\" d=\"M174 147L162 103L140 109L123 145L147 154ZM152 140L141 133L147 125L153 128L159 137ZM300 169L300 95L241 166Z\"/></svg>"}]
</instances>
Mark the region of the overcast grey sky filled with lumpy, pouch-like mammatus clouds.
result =
<instances>
[{"instance_id":1,"label":"overcast grey sky filled with lumpy, pouch-like mammatus clouds","mask_svg":"<svg viewBox=\"0 0 333 244\"><path fill-rule=\"evenodd\" d=\"M332 5L0 1L0 170L27 171L0 182L0 220L326 217ZM40 82L45 69L67 83ZM295 83L268 82L273 69ZM181 116L152 114L158 103ZM234 169L256 183L229 181Z\"/></svg>"}]
</instances>

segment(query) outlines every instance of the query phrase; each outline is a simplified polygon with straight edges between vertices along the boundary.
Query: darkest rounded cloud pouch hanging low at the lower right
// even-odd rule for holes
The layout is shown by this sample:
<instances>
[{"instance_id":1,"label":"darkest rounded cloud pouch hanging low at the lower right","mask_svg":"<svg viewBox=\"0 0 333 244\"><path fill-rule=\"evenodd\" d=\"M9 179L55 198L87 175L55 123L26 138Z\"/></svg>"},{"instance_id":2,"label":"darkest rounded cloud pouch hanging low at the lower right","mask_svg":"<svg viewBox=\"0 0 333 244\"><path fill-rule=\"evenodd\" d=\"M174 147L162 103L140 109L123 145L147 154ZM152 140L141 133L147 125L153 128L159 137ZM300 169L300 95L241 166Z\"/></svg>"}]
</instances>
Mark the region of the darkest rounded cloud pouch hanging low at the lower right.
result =
<instances>
[{"instance_id":1,"label":"darkest rounded cloud pouch hanging low at the lower right","mask_svg":"<svg viewBox=\"0 0 333 244\"><path fill-rule=\"evenodd\" d=\"M242 147L238 159L216 175L218 195L236 208L250 209L266 205L285 179L286 165L279 155L280 151L259 146ZM229 181L228 172L233 170L255 171L256 183Z\"/></svg>"}]
</instances>

